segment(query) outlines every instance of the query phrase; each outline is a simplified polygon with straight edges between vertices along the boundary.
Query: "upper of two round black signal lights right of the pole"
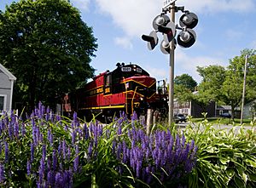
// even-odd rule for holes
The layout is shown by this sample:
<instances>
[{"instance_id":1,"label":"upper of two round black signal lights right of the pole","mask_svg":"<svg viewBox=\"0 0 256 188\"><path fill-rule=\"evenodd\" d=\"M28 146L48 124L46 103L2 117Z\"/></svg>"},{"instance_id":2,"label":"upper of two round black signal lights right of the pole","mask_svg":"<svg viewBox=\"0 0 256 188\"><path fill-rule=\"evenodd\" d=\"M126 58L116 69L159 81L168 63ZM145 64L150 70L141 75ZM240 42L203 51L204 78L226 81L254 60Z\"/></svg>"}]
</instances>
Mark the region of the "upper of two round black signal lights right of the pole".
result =
<instances>
[{"instance_id":1,"label":"upper of two round black signal lights right of the pole","mask_svg":"<svg viewBox=\"0 0 256 188\"><path fill-rule=\"evenodd\" d=\"M193 29L198 23L198 17L194 13L185 13L179 18L179 25Z\"/></svg>"}]
</instances>

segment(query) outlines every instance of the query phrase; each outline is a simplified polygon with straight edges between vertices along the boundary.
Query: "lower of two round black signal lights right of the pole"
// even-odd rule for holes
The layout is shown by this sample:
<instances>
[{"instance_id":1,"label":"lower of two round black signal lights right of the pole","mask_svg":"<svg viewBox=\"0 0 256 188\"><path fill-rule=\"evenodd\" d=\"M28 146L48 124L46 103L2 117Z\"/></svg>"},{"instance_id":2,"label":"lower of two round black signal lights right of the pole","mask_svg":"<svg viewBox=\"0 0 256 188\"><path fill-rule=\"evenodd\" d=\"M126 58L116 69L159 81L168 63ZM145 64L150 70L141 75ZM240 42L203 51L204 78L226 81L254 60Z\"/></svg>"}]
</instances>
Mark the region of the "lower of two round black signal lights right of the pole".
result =
<instances>
[{"instance_id":1,"label":"lower of two round black signal lights right of the pole","mask_svg":"<svg viewBox=\"0 0 256 188\"><path fill-rule=\"evenodd\" d=\"M191 29L180 31L177 35L177 44L183 48L189 48L195 43L196 34Z\"/></svg>"}]
</instances>

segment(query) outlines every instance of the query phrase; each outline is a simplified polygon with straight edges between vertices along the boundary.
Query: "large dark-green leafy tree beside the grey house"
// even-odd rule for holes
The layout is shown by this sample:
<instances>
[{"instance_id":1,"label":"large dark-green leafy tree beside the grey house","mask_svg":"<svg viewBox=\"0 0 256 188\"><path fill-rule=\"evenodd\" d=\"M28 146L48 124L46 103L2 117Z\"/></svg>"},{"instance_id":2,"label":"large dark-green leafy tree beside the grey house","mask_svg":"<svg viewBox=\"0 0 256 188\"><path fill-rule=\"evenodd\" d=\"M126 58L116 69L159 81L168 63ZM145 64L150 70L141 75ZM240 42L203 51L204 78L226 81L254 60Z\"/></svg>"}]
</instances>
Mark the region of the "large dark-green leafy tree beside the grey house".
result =
<instances>
[{"instance_id":1,"label":"large dark-green leafy tree beside the grey house","mask_svg":"<svg viewBox=\"0 0 256 188\"><path fill-rule=\"evenodd\" d=\"M92 28L67 0L21 0L0 14L0 60L31 108L39 100L53 105L92 77L96 48Z\"/></svg>"}]
</instances>

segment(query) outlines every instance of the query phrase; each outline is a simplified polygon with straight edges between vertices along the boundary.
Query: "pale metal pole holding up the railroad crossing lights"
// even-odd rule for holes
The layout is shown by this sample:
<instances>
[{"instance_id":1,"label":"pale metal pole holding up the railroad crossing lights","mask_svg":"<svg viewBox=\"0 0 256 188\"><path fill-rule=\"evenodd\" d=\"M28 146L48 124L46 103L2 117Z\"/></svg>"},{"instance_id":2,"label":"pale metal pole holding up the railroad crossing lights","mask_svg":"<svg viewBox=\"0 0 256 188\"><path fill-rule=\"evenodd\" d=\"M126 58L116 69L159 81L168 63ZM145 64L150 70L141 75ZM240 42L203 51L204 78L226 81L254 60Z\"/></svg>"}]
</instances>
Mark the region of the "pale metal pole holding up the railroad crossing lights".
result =
<instances>
[{"instance_id":1,"label":"pale metal pole holding up the railroad crossing lights","mask_svg":"<svg viewBox=\"0 0 256 188\"><path fill-rule=\"evenodd\" d=\"M175 24L175 2L170 7L170 20ZM174 40L170 42L170 65L169 65L169 127L173 122L173 94L174 94Z\"/></svg>"}]
</instances>

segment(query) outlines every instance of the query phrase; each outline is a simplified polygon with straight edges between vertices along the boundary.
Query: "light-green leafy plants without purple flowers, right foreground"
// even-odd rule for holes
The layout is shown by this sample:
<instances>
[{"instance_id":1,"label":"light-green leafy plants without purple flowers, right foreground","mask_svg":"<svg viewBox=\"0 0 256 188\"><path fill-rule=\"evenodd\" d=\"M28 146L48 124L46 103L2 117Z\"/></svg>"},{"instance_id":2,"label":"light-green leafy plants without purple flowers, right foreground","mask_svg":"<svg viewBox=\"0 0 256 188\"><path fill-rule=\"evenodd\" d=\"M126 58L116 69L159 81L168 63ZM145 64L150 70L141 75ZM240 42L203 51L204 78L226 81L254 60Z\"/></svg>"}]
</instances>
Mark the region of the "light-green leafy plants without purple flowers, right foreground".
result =
<instances>
[{"instance_id":1,"label":"light-green leafy plants without purple flowers, right foreground","mask_svg":"<svg viewBox=\"0 0 256 188\"><path fill-rule=\"evenodd\" d=\"M255 122L251 126L226 130L213 128L207 119L190 122L183 133L195 140L199 150L189 187L255 187Z\"/></svg>"}]
</instances>

